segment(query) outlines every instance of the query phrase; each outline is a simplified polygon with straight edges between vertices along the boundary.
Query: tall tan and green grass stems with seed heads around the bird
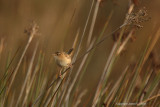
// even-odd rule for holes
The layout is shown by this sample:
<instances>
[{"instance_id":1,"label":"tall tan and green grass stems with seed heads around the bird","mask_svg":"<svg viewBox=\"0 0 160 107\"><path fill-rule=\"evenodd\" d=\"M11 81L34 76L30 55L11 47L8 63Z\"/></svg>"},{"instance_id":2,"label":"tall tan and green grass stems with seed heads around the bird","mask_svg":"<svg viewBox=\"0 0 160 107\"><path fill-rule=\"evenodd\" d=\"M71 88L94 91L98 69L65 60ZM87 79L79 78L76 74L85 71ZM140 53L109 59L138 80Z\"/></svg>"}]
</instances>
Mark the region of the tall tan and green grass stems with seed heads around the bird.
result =
<instances>
[{"instance_id":1,"label":"tall tan and green grass stems with seed heads around the bird","mask_svg":"<svg viewBox=\"0 0 160 107\"><path fill-rule=\"evenodd\" d=\"M33 23L31 25L26 31L29 37L27 43L25 46L20 47L23 51L20 52L19 49L17 49L13 56L9 54L6 59L6 68L3 76L0 78L0 106L128 107L134 105L157 107L160 105L160 64L154 62L155 56L152 54L159 41L160 28L154 28L156 33L152 32L150 34L151 36L145 41L143 40L144 47L139 50L140 57L136 59L134 64L127 63L124 70L118 71L121 72L120 75L113 79L112 74L114 73L116 64L120 61L120 58L122 58L124 49L128 47L131 38L136 34L135 32L139 30L137 28L142 27L141 23L147 20L146 17L148 17L148 15L143 9L137 9L136 12L134 10L136 8L134 7L134 3L131 3L126 12L126 16L124 16L124 22L116 29L108 32L107 29L114 14L114 10L112 10L106 22L104 22L100 34L93 36L93 31L96 30L95 26L97 18L99 17L98 10L101 3L101 0L97 0L96 2L95 0L92 1L84 28L77 29L77 34L75 34L72 43L73 45L70 46L74 48L72 66L64 69L62 77L58 76L58 70L53 66L52 62L54 61L52 55L49 56L50 59L48 62L45 61L46 54L43 50L39 50L39 40L36 40L30 61L24 60L30 48L29 46L33 42L33 38L38 34L37 24ZM73 17L71 17L71 20L73 20L72 18ZM87 30L89 31L87 32ZM128 32L127 36L126 32ZM101 64L103 69L98 71L100 78L97 79L97 82L94 82L95 88L92 90L93 92L89 92L90 90L87 88L81 88L81 84L85 82L83 79L88 72L88 68L94 69L93 66L90 66L90 63L95 59L94 55L97 54L97 48L101 47L107 39L112 38L116 34L118 37L113 41L109 56L104 57L105 63ZM3 57L1 53L5 50L3 43L2 38L0 41L0 57ZM62 45L65 45L65 43ZM17 56L18 59L16 59ZM159 59L159 56L156 58ZM18 61L16 62L14 60ZM26 64L25 67L23 63ZM50 69L50 67L52 69ZM25 73L19 74L22 77L24 76L24 79L22 79L22 84L19 84L16 81L16 78L19 77L17 74L18 72L23 72L23 70ZM53 74L52 71L56 71L57 74ZM50 75L51 72L52 75ZM89 76L90 75L88 75L88 77ZM141 82L138 81L138 78L141 79ZM88 81L92 83L92 81L87 80L87 82ZM18 87L19 89L16 87L18 85L20 85ZM92 93L92 95L90 95L90 93Z\"/></svg>"}]
</instances>

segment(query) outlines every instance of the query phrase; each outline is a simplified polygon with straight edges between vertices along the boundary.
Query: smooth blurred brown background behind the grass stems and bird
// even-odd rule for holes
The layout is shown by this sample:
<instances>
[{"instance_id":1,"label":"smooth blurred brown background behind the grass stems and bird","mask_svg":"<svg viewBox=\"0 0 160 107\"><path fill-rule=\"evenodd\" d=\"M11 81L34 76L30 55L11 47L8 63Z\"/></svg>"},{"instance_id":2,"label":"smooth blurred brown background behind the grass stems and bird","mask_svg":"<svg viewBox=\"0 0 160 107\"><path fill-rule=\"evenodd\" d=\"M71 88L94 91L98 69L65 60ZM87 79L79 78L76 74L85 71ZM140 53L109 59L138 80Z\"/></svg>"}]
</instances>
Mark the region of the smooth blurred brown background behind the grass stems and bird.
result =
<instances>
[{"instance_id":1,"label":"smooth blurred brown background behind the grass stems and bird","mask_svg":"<svg viewBox=\"0 0 160 107\"><path fill-rule=\"evenodd\" d=\"M157 24L159 23L157 19L157 17L159 18L159 8L156 8L160 6L158 4L159 1L135 1L139 2L135 10L145 6L152 19L145 22L142 29L135 31L134 35L136 40L134 42L130 41L127 44L125 51L120 55L118 61L116 61L110 76L110 81L117 81L117 78L127 65L136 64L146 47L148 37L155 34L159 27L159 24ZM80 31L79 34L82 35L91 3L92 0L0 0L0 39L3 40L3 49L0 54L0 78L2 78L5 72L7 59L13 57L16 50L21 46L14 63L12 63L10 67L9 71L11 71L16 66L19 56L23 52L23 47L28 38L28 35L24 34L24 29L31 20L36 21L39 25L40 35L36 36L29 46L12 87L12 91L16 93L15 98L18 97L19 90L26 76L27 67L29 66L36 41L39 40L40 42L34 65L37 63L36 61L38 60L39 53L42 53L42 55L44 55L43 74L48 78L50 75L56 75L58 69L55 61L51 59L52 54L55 51L68 51L72 47L78 29ZM93 37L98 37L101 34L104 24L111 13L113 13L112 18L103 35L105 36L119 27L125 19L127 9L127 0L103 0L99 6ZM80 54L83 54L86 50L86 40L88 38L90 25L91 20L89 20L89 25L87 26ZM87 66L87 70L80 83L80 89L87 89L88 96L92 97L96 90L99 78L114 42L113 37L109 37L98 46L93 54L91 62ZM160 53L159 45L160 43L157 42L155 46L158 56ZM79 65L80 63L76 63L72 78L74 78L74 74ZM145 66L147 67L148 65ZM87 99L88 96L85 98Z\"/></svg>"}]
</instances>

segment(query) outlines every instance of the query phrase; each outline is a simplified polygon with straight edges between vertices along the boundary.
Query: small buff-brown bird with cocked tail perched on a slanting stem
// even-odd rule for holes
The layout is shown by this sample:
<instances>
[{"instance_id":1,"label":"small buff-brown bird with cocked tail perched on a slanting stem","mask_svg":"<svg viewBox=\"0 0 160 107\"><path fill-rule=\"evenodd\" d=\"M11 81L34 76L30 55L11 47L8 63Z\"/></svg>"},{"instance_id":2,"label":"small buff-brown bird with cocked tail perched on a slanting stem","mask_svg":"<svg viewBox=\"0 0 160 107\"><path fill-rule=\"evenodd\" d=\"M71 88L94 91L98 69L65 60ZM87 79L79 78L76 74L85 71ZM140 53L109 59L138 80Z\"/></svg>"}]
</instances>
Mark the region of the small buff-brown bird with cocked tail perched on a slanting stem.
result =
<instances>
[{"instance_id":1,"label":"small buff-brown bird with cocked tail perched on a slanting stem","mask_svg":"<svg viewBox=\"0 0 160 107\"><path fill-rule=\"evenodd\" d=\"M66 52L55 52L53 55L54 55L56 63L62 69L66 69L67 67L71 66L71 62L72 62L71 56L72 56L72 53L73 53L73 48L70 49L67 53ZM61 72L62 72L62 70L60 70L59 76L62 75Z\"/></svg>"}]
</instances>

